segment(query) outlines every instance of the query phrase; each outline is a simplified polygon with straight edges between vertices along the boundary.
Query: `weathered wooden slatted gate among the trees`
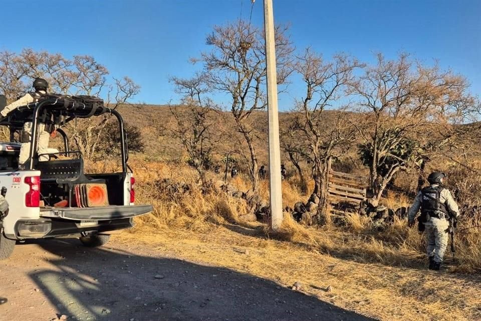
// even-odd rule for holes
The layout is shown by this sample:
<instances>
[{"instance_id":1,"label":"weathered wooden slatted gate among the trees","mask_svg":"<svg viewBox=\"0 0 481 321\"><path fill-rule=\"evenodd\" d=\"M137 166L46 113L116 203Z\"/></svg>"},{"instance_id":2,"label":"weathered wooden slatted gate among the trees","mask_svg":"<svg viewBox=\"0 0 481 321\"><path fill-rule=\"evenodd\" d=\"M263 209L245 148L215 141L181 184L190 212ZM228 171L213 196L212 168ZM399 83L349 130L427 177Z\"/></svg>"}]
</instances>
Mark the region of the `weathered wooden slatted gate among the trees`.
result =
<instances>
[{"instance_id":1,"label":"weathered wooden slatted gate among the trees","mask_svg":"<svg viewBox=\"0 0 481 321\"><path fill-rule=\"evenodd\" d=\"M332 205L339 203L359 205L366 198L367 178L333 171L331 162L328 165L328 173L327 201L331 208Z\"/></svg>"}]
</instances>

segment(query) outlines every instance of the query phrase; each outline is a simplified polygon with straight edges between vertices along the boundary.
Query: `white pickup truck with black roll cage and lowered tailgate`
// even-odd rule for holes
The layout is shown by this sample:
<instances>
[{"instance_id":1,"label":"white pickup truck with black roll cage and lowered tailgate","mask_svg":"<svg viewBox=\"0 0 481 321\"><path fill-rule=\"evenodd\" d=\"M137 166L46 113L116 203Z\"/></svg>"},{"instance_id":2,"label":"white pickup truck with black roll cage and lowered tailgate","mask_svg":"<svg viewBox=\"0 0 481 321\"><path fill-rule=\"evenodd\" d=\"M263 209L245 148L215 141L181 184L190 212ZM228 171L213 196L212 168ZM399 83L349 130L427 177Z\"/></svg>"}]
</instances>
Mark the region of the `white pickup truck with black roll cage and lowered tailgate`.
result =
<instances>
[{"instance_id":1,"label":"white pickup truck with black roll cage and lowered tailgate","mask_svg":"<svg viewBox=\"0 0 481 321\"><path fill-rule=\"evenodd\" d=\"M0 106L1 109L1 106ZM118 173L85 174L82 155L69 150L68 135L62 127L77 118L110 113L118 119L121 167ZM62 119L53 123L63 136L64 150L49 153L49 161L39 161L37 152L38 124L45 119ZM0 259L8 258L16 241L38 238L78 237L89 247L105 244L110 234L133 226L135 216L152 211L151 205L134 205L135 191L132 171L127 165L127 136L123 120L116 110L78 97L47 97L37 103L19 107L0 125L10 128L11 140L32 121L32 144L26 166L19 168L20 143L0 143L0 189L9 203L0 234ZM106 190L105 201L92 205L89 192L80 193L79 186L98 185ZM98 192L99 188L97 188ZM91 190L92 191L92 190ZM84 199L79 200L80 196ZM95 195L94 195L95 196Z\"/></svg>"}]
</instances>

